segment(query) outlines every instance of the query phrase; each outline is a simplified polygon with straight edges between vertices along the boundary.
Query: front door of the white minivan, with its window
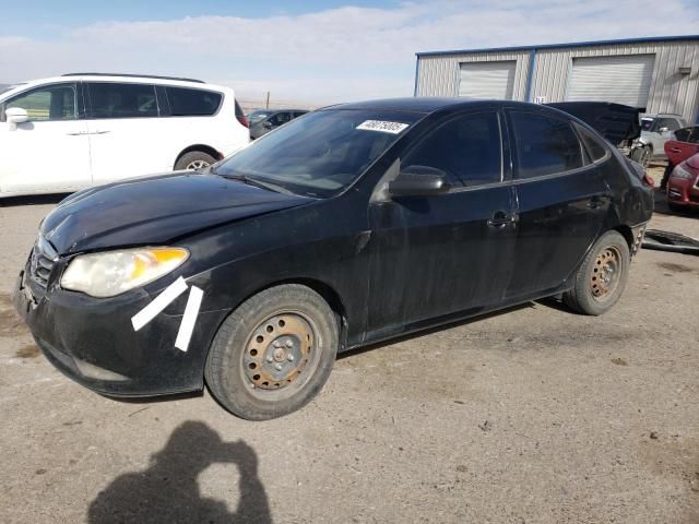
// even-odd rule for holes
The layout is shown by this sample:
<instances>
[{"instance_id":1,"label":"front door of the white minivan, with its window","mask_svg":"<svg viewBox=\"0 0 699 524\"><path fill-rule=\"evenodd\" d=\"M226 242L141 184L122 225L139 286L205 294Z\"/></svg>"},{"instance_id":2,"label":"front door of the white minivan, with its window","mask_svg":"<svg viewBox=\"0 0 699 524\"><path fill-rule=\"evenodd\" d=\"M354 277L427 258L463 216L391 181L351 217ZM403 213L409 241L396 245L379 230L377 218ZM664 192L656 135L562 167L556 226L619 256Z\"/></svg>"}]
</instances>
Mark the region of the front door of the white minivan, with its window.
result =
<instances>
[{"instance_id":1,"label":"front door of the white minivan, with its window","mask_svg":"<svg viewBox=\"0 0 699 524\"><path fill-rule=\"evenodd\" d=\"M25 109L29 117L14 129L4 117L12 107ZM75 82L35 87L0 104L0 191L60 192L90 184L82 107Z\"/></svg>"}]
</instances>

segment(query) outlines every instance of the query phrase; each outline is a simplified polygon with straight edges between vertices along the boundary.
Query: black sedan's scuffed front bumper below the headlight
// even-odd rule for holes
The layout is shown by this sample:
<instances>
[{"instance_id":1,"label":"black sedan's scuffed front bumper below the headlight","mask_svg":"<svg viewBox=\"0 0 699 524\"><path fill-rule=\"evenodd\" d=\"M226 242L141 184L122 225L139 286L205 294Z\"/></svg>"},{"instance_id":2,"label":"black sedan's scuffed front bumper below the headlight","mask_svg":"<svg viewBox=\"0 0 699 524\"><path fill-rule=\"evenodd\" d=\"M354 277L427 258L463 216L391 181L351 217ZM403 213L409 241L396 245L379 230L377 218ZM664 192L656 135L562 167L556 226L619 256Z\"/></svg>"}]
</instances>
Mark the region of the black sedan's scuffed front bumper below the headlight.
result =
<instances>
[{"instance_id":1,"label":"black sedan's scuffed front bumper below the headlight","mask_svg":"<svg viewBox=\"0 0 699 524\"><path fill-rule=\"evenodd\" d=\"M28 269L28 266L27 266ZM46 358L75 382L108 396L154 396L203 388L203 368L226 311L200 312L188 350L175 347L187 302L181 295L135 332L131 317L154 296L135 289L93 298L49 282L38 294L27 269L12 294Z\"/></svg>"}]
</instances>

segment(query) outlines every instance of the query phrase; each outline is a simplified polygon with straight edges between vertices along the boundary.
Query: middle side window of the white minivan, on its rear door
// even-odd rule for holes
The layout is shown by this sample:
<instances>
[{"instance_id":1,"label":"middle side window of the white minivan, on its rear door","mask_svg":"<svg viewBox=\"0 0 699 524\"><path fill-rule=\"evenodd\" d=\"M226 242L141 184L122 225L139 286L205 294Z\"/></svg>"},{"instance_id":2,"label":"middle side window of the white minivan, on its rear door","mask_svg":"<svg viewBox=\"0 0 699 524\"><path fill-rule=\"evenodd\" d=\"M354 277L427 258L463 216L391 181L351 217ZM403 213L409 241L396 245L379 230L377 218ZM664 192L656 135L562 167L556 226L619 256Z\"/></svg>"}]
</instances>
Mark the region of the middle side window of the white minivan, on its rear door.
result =
<instances>
[{"instance_id":1,"label":"middle side window of the white minivan, on its rear door","mask_svg":"<svg viewBox=\"0 0 699 524\"><path fill-rule=\"evenodd\" d=\"M87 88L93 118L157 117L153 85L95 82Z\"/></svg>"}]
</instances>

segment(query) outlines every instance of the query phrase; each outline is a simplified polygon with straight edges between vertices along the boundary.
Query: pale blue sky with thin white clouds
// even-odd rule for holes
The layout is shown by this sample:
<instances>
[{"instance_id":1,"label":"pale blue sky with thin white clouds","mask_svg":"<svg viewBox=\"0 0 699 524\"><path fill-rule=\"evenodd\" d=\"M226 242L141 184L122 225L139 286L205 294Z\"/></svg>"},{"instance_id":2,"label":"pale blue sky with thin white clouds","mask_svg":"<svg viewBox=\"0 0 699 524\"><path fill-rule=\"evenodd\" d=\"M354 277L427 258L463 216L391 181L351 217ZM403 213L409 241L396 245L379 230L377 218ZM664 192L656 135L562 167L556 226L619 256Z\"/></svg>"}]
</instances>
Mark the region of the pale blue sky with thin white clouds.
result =
<instances>
[{"instance_id":1,"label":"pale blue sky with thin white clouds","mask_svg":"<svg viewBox=\"0 0 699 524\"><path fill-rule=\"evenodd\" d=\"M699 33L699 0L0 0L0 83L201 78L325 104L413 92L415 52ZM640 13L640 14L639 14ZM651 15L643 15L650 13Z\"/></svg>"}]
</instances>

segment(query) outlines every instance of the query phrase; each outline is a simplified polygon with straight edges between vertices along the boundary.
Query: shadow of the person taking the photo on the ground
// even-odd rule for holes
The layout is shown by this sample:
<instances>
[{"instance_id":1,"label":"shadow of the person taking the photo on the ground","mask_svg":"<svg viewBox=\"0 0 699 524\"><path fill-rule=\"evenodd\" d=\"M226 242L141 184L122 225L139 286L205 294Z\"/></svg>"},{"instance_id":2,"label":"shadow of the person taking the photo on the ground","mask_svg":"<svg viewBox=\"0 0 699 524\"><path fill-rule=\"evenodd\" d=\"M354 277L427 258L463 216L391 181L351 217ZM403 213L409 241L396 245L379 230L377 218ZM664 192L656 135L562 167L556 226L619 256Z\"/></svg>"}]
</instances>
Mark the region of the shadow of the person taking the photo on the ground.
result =
<instances>
[{"instance_id":1,"label":"shadow of the person taking the photo on the ground","mask_svg":"<svg viewBox=\"0 0 699 524\"><path fill-rule=\"evenodd\" d=\"M240 498L235 513L225 502L202 497L198 476L212 464L235 464ZM232 491L235 478L229 479ZM187 421L170 436L151 466L117 477L92 502L87 522L257 523L272 522L258 457L244 441L223 442L203 422Z\"/></svg>"}]
</instances>

